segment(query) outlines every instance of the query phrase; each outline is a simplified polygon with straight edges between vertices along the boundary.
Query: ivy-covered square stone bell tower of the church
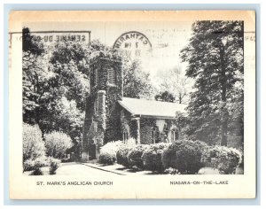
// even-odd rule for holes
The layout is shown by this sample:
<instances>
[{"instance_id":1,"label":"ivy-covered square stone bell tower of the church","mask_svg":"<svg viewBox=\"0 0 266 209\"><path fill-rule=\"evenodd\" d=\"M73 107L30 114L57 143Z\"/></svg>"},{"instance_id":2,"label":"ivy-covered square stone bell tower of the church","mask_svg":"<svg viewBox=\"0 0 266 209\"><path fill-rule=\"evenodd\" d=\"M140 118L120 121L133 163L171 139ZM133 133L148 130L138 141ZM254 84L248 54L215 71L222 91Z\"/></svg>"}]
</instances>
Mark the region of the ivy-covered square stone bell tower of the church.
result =
<instances>
[{"instance_id":1,"label":"ivy-covered square stone bell tower of the church","mask_svg":"<svg viewBox=\"0 0 266 209\"><path fill-rule=\"evenodd\" d=\"M100 147L121 138L117 100L122 99L121 58L102 53L90 63L90 96L86 98L82 161L98 159Z\"/></svg>"}]
</instances>

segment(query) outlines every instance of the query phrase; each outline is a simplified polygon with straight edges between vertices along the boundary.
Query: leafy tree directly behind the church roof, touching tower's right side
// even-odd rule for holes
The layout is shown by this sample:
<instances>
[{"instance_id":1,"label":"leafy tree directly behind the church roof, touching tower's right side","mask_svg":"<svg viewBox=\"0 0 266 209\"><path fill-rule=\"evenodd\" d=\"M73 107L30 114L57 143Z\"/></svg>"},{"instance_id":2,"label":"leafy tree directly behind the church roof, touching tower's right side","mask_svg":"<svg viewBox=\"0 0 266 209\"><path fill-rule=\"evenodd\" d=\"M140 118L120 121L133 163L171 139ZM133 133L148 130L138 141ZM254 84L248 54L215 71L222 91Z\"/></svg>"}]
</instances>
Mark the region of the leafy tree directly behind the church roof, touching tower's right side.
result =
<instances>
[{"instance_id":1,"label":"leafy tree directly behind the church roof, touching tower's right side","mask_svg":"<svg viewBox=\"0 0 266 209\"><path fill-rule=\"evenodd\" d=\"M150 74L141 69L141 64L137 60L123 59L123 96L148 99L153 97Z\"/></svg>"}]
</instances>

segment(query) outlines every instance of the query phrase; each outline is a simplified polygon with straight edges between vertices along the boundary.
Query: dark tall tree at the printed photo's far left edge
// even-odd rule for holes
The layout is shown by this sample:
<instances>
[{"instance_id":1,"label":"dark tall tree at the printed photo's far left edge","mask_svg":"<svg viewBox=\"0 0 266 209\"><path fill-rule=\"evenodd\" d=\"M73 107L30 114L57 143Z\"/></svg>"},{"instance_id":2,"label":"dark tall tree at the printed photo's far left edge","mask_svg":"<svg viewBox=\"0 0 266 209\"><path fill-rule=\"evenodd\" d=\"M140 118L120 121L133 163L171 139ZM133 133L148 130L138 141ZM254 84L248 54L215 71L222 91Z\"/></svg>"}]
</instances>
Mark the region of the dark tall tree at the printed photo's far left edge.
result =
<instances>
[{"instance_id":1,"label":"dark tall tree at the printed photo's far left edge","mask_svg":"<svg viewBox=\"0 0 266 209\"><path fill-rule=\"evenodd\" d=\"M29 29L22 30L22 74L23 74L23 120L29 124L37 124L44 133L43 117L49 117L47 106L43 103L51 102L52 76L47 67L47 56L44 54L43 43Z\"/></svg>"}]
</instances>

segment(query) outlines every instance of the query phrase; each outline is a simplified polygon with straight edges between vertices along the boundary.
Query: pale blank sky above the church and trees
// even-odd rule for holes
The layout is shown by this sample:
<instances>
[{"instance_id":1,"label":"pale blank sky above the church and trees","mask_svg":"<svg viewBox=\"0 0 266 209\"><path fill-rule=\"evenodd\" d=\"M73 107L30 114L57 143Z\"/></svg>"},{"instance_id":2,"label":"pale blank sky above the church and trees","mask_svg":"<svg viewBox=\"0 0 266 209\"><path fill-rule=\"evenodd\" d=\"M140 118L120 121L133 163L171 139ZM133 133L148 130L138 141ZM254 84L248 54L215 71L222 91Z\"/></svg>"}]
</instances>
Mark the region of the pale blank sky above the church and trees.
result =
<instances>
[{"instance_id":1,"label":"pale blank sky above the church and trees","mask_svg":"<svg viewBox=\"0 0 266 209\"><path fill-rule=\"evenodd\" d=\"M152 81L159 71L167 71L176 66L185 69L185 64L179 58L180 50L184 48L192 34L192 22L43 22L25 24L34 31L90 31L90 41L99 40L107 46L124 33L137 31L147 37L152 49L141 53L138 57L142 69L151 74ZM142 49L145 51L145 49ZM134 58L133 58L134 59ZM155 80L154 80L155 81Z\"/></svg>"}]
</instances>

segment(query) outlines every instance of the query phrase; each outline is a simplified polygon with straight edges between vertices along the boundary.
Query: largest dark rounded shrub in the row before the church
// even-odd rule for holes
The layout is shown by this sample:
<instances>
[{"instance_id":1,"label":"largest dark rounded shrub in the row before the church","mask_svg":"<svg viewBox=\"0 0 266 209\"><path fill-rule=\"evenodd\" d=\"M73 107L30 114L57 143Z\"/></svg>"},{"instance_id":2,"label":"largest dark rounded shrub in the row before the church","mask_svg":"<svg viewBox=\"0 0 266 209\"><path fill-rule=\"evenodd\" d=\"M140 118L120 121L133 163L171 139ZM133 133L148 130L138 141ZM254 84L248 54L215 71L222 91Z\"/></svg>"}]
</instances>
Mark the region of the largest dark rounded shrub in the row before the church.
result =
<instances>
[{"instance_id":1,"label":"largest dark rounded shrub in the row before the church","mask_svg":"<svg viewBox=\"0 0 266 209\"><path fill-rule=\"evenodd\" d=\"M178 140L162 152L165 168L176 168L180 174L197 174L204 166L202 156L207 143L191 140Z\"/></svg>"}]
</instances>

